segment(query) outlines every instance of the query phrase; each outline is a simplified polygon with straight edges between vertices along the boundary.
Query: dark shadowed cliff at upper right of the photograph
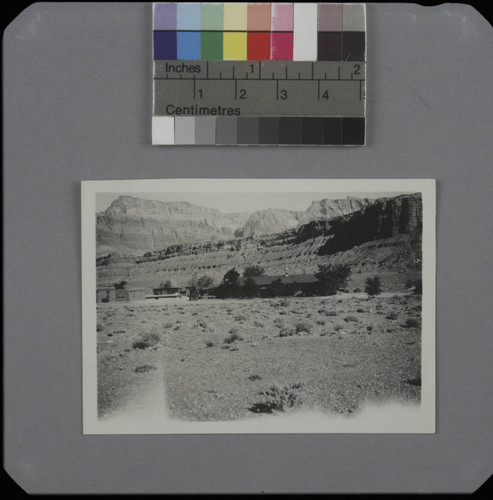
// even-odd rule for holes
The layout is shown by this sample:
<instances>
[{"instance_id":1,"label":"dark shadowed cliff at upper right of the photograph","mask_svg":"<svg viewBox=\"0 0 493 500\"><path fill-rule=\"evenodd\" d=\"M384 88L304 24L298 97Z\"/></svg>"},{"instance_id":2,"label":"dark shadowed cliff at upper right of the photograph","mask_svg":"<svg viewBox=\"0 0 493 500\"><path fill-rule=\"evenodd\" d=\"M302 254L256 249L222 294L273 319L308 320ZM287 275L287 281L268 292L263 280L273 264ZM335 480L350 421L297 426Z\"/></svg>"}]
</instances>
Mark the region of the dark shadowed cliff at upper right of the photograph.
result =
<instances>
[{"instance_id":1,"label":"dark shadowed cliff at upper right of the photograph","mask_svg":"<svg viewBox=\"0 0 493 500\"><path fill-rule=\"evenodd\" d=\"M367 241L421 231L422 222L420 194L382 198L354 214L332 219L330 228L325 228L329 239L319 254L333 254Z\"/></svg>"}]
</instances>

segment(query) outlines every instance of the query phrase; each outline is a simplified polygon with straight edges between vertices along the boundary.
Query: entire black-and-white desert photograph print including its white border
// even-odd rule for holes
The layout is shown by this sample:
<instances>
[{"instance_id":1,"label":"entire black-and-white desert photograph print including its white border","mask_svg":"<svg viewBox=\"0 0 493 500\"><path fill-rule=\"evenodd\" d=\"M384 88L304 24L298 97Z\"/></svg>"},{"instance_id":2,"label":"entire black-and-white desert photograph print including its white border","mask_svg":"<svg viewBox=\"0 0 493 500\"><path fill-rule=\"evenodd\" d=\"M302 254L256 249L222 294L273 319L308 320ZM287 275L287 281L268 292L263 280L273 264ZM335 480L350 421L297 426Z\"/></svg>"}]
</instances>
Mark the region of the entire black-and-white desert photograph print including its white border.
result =
<instances>
[{"instance_id":1,"label":"entire black-and-white desert photograph print including its white border","mask_svg":"<svg viewBox=\"0 0 493 500\"><path fill-rule=\"evenodd\" d=\"M82 182L84 432L435 430L435 184Z\"/></svg>"}]
</instances>

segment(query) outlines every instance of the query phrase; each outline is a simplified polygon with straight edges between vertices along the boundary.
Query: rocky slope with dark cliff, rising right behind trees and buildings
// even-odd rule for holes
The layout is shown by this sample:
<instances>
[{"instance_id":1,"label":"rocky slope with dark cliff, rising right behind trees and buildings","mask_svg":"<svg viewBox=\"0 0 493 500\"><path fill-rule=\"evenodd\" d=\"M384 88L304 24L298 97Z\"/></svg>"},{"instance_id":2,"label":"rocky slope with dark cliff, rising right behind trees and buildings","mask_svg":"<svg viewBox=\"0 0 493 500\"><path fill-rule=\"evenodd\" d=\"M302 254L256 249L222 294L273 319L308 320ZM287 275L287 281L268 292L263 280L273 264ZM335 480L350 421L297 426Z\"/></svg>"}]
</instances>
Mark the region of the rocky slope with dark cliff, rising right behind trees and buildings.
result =
<instances>
[{"instance_id":1,"label":"rocky slope with dark cliff, rising right behind trees and buildings","mask_svg":"<svg viewBox=\"0 0 493 500\"><path fill-rule=\"evenodd\" d=\"M219 284L232 267L241 272L250 265L261 265L271 275L313 273L327 263L349 264L354 273L404 272L420 268L421 226L419 194L383 198L353 214L276 234L181 243L138 258L101 257L98 285L124 279L152 287L170 279L185 286L203 274Z\"/></svg>"}]
</instances>

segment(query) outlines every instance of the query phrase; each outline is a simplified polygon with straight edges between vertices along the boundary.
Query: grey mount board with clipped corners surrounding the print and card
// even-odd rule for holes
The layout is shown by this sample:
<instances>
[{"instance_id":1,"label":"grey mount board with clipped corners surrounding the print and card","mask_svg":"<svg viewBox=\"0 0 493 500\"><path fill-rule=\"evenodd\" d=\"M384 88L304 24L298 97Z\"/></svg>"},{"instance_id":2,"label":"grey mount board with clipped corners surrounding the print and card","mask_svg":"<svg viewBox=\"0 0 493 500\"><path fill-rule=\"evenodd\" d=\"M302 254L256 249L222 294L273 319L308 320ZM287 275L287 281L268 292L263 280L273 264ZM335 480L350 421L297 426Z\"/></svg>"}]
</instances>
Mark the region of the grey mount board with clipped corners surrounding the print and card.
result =
<instances>
[{"instance_id":1,"label":"grey mount board with clipped corners surrounding the print and card","mask_svg":"<svg viewBox=\"0 0 493 500\"><path fill-rule=\"evenodd\" d=\"M470 492L491 474L493 30L368 4L362 148L152 147L151 4L4 33L4 452L29 493ZM80 181L436 178L435 435L82 435Z\"/></svg>"}]
</instances>

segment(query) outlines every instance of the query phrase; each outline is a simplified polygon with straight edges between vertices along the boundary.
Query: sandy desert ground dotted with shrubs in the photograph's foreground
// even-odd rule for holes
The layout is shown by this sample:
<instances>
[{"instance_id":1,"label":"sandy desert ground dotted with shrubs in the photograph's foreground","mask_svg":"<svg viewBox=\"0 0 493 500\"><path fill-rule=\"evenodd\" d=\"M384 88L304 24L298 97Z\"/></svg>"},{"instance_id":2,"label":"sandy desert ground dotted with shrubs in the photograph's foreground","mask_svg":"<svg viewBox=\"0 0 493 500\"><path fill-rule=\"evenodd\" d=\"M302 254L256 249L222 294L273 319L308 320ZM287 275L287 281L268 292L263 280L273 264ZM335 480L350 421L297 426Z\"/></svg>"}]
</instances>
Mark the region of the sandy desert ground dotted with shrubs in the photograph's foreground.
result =
<instances>
[{"instance_id":1,"label":"sandy desert ground dotted with shrubs in the photograph's foreground","mask_svg":"<svg viewBox=\"0 0 493 500\"><path fill-rule=\"evenodd\" d=\"M151 386L191 421L419 402L420 315L402 293L98 304L99 417Z\"/></svg>"}]
</instances>

